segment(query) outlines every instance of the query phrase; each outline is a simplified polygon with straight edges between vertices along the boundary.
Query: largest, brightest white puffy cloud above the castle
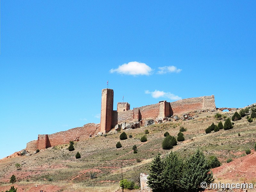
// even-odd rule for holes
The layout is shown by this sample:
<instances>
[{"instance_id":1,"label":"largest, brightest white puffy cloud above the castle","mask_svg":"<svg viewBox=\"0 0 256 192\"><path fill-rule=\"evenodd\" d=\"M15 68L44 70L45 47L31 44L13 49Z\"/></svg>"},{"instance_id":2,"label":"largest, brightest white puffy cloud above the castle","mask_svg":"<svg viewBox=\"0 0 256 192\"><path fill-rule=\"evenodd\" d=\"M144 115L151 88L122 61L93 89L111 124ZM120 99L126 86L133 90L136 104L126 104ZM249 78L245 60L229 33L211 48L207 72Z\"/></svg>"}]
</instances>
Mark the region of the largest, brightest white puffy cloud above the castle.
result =
<instances>
[{"instance_id":1,"label":"largest, brightest white puffy cloud above the castle","mask_svg":"<svg viewBox=\"0 0 256 192\"><path fill-rule=\"evenodd\" d=\"M125 75L150 75L152 68L145 63L132 61L127 64L124 63L123 65L119 65L116 69L110 70L110 73L114 72Z\"/></svg>"}]
</instances>

